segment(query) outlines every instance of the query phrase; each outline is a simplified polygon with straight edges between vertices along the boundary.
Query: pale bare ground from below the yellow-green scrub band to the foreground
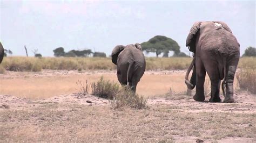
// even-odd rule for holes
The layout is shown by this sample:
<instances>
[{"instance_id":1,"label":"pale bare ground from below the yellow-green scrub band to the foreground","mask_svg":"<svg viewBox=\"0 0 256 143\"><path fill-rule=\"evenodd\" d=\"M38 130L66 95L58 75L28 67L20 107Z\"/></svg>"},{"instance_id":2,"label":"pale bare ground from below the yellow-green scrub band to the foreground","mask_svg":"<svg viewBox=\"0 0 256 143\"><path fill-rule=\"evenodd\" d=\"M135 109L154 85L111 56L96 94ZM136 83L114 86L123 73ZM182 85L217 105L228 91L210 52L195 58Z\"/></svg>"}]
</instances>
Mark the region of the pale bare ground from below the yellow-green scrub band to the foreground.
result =
<instances>
[{"instance_id":1,"label":"pale bare ground from below the yellow-green scrub band to the foreground","mask_svg":"<svg viewBox=\"0 0 256 143\"><path fill-rule=\"evenodd\" d=\"M0 90L4 93L0 95L0 142L196 142L199 139L204 142L256 142L256 95L235 90L235 103L193 101L192 96L184 94L183 70L147 71L144 81L139 83L142 84L139 94L143 88L151 94L144 92L150 98L147 108L142 110L126 107L113 110L107 99L76 94L77 90L73 89L70 90L73 94L40 94L44 88L58 86L54 84L56 79L63 82L59 87L65 85L64 89L76 82L81 77L79 74L87 75L92 81L100 75L106 79L116 76L114 71L90 72L46 70L1 75L0 86L3 82L10 85L3 85L6 89L1 87ZM68 81L68 77L76 78ZM35 85L29 85L26 80ZM168 81L173 85L165 85ZM163 84L156 86L147 82ZM19 92L25 93L18 88L23 84L36 96L17 96ZM36 90L40 85L44 88ZM156 87L165 90L157 94ZM164 94L170 87L172 92ZM92 103L87 103L89 101Z\"/></svg>"}]
</instances>

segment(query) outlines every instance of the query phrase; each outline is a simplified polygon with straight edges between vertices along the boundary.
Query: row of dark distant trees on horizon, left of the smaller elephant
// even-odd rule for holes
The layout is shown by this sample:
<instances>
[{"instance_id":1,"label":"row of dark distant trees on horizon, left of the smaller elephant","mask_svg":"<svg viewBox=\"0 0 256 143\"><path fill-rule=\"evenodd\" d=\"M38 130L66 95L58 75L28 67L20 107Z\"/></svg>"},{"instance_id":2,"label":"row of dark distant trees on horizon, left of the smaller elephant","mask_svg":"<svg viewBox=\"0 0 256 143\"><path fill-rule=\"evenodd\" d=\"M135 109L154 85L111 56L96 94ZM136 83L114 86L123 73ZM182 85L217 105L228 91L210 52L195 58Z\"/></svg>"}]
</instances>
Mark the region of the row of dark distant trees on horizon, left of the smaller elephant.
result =
<instances>
[{"instance_id":1,"label":"row of dark distant trees on horizon, left of the smaller elephant","mask_svg":"<svg viewBox=\"0 0 256 143\"><path fill-rule=\"evenodd\" d=\"M65 52L63 47L59 47L53 50L54 56L64 56L64 57L88 57L92 54L93 57L106 57L103 52L92 52L91 49L84 49L82 51L72 49L69 52Z\"/></svg>"}]
</instances>

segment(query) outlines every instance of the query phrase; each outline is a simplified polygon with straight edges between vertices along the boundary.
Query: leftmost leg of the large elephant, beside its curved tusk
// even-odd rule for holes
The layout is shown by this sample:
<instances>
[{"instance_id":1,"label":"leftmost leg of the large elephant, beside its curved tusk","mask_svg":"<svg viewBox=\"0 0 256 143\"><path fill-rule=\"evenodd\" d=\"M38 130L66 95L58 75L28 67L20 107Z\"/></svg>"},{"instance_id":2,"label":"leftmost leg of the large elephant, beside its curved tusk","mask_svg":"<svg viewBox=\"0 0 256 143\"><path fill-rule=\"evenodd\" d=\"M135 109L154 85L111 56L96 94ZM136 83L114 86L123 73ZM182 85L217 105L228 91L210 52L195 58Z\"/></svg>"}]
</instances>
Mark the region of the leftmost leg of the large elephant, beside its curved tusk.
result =
<instances>
[{"instance_id":1,"label":"leftmost leg of the large elephant, beside its curved tusk","mask_svg":"<svg viewBox=\"0 0 256 143\"><path fill-rule=\"evenodd\" d=\"M196 59L196 71L197 71L197 84L196 84L196 95L193 96L195 101L205 101L204 95L204 83L205 83L205 68L200 58Z\"/></svg>"}]
</instances>

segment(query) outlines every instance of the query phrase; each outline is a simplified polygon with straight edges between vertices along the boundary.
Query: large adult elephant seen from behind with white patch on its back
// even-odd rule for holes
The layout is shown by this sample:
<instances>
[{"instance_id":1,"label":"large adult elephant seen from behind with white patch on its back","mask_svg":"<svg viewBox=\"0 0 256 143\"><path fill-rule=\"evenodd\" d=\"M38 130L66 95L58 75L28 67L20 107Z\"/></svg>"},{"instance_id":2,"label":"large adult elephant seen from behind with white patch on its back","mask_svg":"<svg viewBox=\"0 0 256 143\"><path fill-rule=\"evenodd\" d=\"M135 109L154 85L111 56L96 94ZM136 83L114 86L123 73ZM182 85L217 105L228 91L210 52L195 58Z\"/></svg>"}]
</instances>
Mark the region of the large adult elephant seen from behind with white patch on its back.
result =
<instances>
[{"instance_id":1,"label":"large adult elephant seen from behind with white patch on its back","mask_svg":"<svg viewBox=\"0 0 256 143\"><path fill-rule=\"evenodd\" d=\"M233 81L239 61L239 43L230 28L223 22L196 22L187 36L186 46L194 53L188 67L185 83L188 89L196 86L195 101L204 101L204 82L207 71L211 80L209 102L221 102L220 82L225 96L223 102L234 102ZM193 68L191 80L188 75Z\"/></svg>"}]
</instances>

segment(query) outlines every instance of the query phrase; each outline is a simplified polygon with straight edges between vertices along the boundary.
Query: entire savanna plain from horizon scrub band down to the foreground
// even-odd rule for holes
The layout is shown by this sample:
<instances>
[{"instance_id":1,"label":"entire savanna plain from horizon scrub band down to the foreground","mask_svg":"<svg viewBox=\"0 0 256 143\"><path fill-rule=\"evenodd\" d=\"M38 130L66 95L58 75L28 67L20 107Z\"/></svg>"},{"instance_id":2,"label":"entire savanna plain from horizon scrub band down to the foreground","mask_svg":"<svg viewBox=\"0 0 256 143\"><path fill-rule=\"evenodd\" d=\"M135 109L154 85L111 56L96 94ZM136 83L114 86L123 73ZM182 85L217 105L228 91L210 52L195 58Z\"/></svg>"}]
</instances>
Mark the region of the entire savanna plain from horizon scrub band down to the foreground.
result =
<instances>
[{"instance_id":1,"label":"entire savanna plain from horizon scrub band down to the foreground","mask_svg":"<svg viewBox=\"0 0 256 143\"><path fill-rule=\"evenodd\" d=\"M146 58L142 108L117 108L92 95L100 78L119 85L109 58L4 58L0 142L256 142L256 58L239 61L235 103L194 101L184 83L191 61Z\"/></svg>"}]
</instances>

